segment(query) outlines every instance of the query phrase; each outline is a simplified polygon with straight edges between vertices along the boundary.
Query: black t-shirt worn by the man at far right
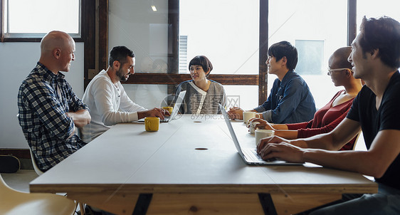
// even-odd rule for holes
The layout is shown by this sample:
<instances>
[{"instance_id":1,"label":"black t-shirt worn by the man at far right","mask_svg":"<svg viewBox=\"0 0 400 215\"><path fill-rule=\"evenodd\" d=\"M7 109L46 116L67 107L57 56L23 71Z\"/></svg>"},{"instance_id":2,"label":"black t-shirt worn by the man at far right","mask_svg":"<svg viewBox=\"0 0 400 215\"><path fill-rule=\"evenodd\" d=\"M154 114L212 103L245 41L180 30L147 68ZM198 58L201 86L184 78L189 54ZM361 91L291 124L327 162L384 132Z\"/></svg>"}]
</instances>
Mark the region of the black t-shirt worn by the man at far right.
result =
<instances>
[{"instance_id":1,"label":"black t-shirt worn by the man at far right","mask_svg":"<svg viewBox=\"0 0 400 215\"><path fill-rule=\"evenodd\" d=\"M400 130L400 73L391 76L381 105L377 110L376 95L366 85L354 99L347 115L350 120L360 122L367 149L381 130ZM400 189L400 154L377 182Z\"/></svg>"}]
</instances>

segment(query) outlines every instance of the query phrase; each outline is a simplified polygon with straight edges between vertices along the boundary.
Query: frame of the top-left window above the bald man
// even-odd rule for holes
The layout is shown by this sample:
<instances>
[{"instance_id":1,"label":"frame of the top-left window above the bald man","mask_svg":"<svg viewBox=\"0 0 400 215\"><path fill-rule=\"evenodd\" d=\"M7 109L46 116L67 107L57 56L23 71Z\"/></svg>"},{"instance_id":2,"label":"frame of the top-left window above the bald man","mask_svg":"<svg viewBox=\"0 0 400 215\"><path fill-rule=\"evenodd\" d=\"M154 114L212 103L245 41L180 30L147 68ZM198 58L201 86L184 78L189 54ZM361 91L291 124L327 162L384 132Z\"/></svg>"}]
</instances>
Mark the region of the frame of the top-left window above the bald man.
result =
<instances>
[{"instance_id":1,"label":"frame of the top-left window above the bald man","mask_svg":"<svg viewBox=\"0 0 400 215\"><path fill-rule=\"evenodd\" d=\"M4 33L5 27L5 10L6 10L6 1L7 0L0 0L0 41L1 43L4 42L40 42L41 38L46 35L46 33ZM80 8L79 8L79 16L80 16L80 23L79 23L79 31L80 33L69 33L70 36L74 39L75 42L83 42L83 1L80 1Z\"/></svg>"}]
</instances>

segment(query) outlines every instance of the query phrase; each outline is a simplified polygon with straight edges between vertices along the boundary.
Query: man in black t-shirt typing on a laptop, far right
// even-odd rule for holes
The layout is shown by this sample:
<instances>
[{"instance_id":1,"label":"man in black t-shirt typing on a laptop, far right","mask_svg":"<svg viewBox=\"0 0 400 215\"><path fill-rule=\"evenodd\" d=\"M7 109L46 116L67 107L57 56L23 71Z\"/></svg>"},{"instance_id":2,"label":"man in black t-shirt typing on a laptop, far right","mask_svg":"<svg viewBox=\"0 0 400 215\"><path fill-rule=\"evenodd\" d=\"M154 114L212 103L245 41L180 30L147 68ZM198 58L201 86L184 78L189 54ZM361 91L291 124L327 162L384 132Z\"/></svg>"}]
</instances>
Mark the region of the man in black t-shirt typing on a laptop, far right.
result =
<instances>
[{"instance_id":1,"label":"man in black t-shirt typing on a laptop, far right","mask_svg":"<svg viewBox=\"0 0 400 215\"><path fill-rule=\"evenodd\" d=\"M352 42L349 62L365 85L347 117L332 132L307 139L268 137L260 142L263 159L312 162L373 176L377 194L313 211L312 214L400 214L400 23L389 17L364 19ZM366 152L339 150L359 130ZM321 150L322 149L322 150Z\"/></svg>"}]
</instances>

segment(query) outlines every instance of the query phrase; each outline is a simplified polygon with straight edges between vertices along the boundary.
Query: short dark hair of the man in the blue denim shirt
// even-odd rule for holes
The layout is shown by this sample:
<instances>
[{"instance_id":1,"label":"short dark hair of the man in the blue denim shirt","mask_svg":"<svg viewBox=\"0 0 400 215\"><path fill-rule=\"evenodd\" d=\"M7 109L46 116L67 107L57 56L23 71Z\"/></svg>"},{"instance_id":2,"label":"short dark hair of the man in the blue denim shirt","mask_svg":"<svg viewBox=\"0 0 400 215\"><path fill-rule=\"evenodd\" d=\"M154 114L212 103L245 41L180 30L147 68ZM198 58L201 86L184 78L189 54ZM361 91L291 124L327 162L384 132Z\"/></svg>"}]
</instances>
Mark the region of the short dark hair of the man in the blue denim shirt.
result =
<instances>
[{"instance_id":1,"label":"short dark hair of the man in the blue denim shirt","mask_svg":"<svg viewBox=\"0 0 400 215\"><path fill-rule=\"evenodd\" d=\"M270 46L270 48L268 48L268 56L275 57L277 62L283 57L286 57L288 60L286 66L289 70L294 70L296 65L298 65L298 50L288 41L280 41Z\"/></svg>"}]
</instances>

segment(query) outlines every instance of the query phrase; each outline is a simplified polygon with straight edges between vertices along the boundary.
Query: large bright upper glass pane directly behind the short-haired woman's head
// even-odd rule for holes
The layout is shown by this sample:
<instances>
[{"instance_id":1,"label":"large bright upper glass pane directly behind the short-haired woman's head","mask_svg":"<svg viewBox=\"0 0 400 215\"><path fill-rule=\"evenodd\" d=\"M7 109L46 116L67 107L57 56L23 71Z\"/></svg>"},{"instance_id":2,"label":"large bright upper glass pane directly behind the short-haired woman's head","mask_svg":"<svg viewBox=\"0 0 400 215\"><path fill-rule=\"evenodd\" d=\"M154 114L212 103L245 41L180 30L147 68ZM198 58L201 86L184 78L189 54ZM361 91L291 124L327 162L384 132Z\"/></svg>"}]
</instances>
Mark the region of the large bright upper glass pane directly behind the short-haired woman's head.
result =
<instances>
[{"instance_id":1,"label":"large bright upper glass pane directly behind the short-haired woman's head","mask_svg":"<svg viewBox=\"0 0 400 215\"><path fill-rule=\"evenodd\" d=\"M214 74L258 74L258 0L179 1L179 73L207 56Z\"/></svg>"}]
</instances>

